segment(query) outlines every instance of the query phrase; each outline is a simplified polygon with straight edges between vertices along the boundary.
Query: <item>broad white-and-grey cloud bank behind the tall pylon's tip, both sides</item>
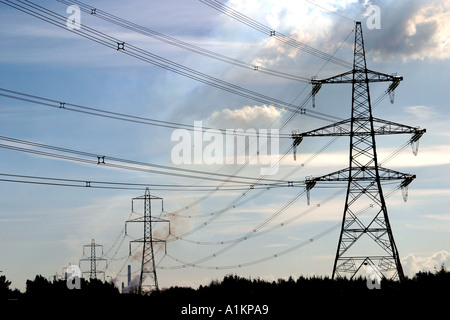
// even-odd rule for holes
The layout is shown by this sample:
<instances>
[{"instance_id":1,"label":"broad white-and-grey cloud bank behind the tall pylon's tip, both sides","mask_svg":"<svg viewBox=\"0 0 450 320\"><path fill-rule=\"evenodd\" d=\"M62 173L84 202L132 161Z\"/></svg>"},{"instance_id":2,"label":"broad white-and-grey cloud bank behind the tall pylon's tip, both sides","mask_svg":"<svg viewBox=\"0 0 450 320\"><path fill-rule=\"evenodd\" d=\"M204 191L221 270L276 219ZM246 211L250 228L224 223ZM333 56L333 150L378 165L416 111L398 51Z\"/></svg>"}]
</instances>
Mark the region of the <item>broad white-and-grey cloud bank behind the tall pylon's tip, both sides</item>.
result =
<instances>
[{"instance_id":1,"label":"broad white-and-grey cloud bank behind the tall pylon's tip, both sides","mask_svg":"<svg viewBox=\"0 0 450 320\"><path fill-rule=\"evenodd\" d=\"M366 52L376 61L400 59L448 59L450 50L450 3L438 0L411 1L318 1L277 2L277 5L244 2L235 4L238 11L248 13L253 19L280 30L296 40L331 53L340 44L351 27L351 19L362 22ZM250 7L250 4L252 5ZM381 29L368 29L366 22L369 5L380 7ZM258 16L257 12L270 12ZM347 19L344 19L346 17ZM289 30L289 31L287 31ZM268 46L282 46L277 41ZM353 41L347 41L353 46ZM291 48L292 49L292 48ZM282 50L277 50L282 53ZM262 52L261 52L262 53ZM294 57L298 51L285 52ZM279 60L279 59L278 59Z\"/></svg>"}]
</instances>

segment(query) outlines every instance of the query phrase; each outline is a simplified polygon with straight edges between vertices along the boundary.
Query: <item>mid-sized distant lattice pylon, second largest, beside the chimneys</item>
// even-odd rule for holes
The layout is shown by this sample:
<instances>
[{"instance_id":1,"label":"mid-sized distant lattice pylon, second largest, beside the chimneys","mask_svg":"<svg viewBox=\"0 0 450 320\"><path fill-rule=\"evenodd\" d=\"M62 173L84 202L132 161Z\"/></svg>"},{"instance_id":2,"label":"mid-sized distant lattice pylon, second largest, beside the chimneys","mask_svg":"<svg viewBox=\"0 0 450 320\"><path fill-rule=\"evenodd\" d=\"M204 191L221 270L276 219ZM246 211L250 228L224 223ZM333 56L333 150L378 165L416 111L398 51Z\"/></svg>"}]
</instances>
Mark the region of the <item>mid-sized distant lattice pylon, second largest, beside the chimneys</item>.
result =
<instances>
[{"instance_id":1,"label":"mid-sized distant lattice pylon, second largest, beside the chimneys","mask_svg":"<svg viewBox=\"0 0 450 320\"><path fill-rule=\"evenodd\" d=\"M145 194L140 197L133 198L131 201L131 211L134 212L134 201L142 200L144 201L144 215L135 219L131 219L125 222L125 233L127 223L130 222L140 222L144 225L144 236L137 240L130 241L130 254L131 254L131 244L134 242L142 243L142 262L141 262L141 273L139 277L138 293L141 294L143 291L158 290L158 278L156 277L156 266L155 266L155 254L153 251L154 243L164 243L165 240L156 239L153 237L152 224L157 222L169 222L169 220L152 217L152 201L161 201L162 210L163 199L150 195L150 189L145 189ZM169 233L170 233L170 222L169 222Z\"/></svg>"}]
</instances>

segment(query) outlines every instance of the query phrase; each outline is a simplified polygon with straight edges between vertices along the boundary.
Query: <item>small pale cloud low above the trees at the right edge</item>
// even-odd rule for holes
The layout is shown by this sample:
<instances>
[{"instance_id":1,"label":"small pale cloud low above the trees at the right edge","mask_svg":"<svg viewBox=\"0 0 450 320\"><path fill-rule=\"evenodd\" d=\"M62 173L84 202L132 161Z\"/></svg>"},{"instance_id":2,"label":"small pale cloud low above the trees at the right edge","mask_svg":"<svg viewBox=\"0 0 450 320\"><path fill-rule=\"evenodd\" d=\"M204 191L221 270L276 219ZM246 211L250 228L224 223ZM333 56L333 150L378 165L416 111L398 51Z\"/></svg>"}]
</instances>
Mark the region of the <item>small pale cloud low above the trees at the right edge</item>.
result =
<instances>
[{"instance_id":1,"label":"small pale cloud low above the trees at the right edge","mask_svg":"<svg viewBox=\"0 0 450 320\"><path fill-rule=\"evenodd\" d=\"M405 274L408 276L414 276L420 271L439 270L442 265L450 266L450 252L442 250L425 257L410 253L402 259L402 265Z\"/></svg>"}]
</instances>

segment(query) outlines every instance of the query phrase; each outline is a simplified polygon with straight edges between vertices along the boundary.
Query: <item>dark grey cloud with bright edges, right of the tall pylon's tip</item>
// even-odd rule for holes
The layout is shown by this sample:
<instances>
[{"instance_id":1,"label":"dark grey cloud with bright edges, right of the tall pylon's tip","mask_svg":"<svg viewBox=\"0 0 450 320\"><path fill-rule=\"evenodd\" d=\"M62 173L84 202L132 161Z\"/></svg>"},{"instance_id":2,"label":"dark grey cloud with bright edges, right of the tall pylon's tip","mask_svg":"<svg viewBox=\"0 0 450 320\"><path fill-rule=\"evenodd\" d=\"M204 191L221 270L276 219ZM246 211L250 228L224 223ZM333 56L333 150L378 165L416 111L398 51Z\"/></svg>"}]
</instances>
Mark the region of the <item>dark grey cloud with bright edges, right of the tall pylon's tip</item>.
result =
<instances>
[{"instance_id":1,"label":"dark grey cloud with bright edges, right of the tall pylon's tip","mask_svg":"<svg viewBox=\"0 0 450 320\"><path fill-rule=\"evenodd\" d=\"M381 29L368 30L367 51L377 61L448 59L450 4L429 1L376 2Z\"/></svg>"}]
</instances>

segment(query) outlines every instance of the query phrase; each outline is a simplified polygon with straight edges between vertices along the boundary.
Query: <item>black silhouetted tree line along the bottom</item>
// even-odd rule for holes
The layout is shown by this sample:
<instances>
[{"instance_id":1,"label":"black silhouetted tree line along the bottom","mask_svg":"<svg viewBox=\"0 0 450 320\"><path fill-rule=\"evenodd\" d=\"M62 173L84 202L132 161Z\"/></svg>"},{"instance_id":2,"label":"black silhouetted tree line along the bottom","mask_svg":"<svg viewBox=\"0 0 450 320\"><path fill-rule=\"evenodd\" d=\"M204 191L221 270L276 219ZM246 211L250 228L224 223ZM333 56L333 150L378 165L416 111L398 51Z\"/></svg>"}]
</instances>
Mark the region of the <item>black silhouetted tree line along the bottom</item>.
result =
<instances>
[{"instance_id":1,"label":"black silhouetted tree line along the bottom","mask_svg":"<svg viewBox=\"0 0 450 320\"><path fill-rule=\"evenodd\" d=\"M170 319L206 319L208 315L183 315L181 311L185 308L198 312L195 308L211 306L221 310L220 313L216 311L214 319L285 319L296 313L303 314L305 310L332 315L340 308L349 307L353 311L376 315L390 306L393 310L399 308L404 315L414 315L417 310L431 311L446 306L449 297L450 272L444 266L433 272L418 272L401 283L383 279L380 289L369 289L367 281L362 277L333 280L316 276L267 281L227 275L221 281L214 280L196 289L173 286L138 295L136 290L121 294L113 283L97 279L80 279L80 289L70 290L66 280L49 281L41 275L27 280L26 290L21 292L11 289L11 282L2 275L0 305L58 305L61 302L60 305L76 306L97 301L130 310L144 305L152 308L152 312L163 312ZM248 314L246 306L249 305L253 306L252 310L266 306L268 314ZM228 313L238 314L224 314L227 307Z\"/></svg>"}]
</instances>

